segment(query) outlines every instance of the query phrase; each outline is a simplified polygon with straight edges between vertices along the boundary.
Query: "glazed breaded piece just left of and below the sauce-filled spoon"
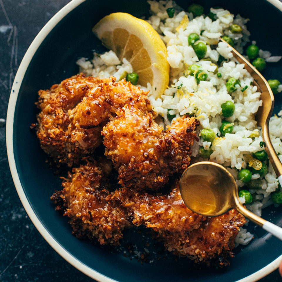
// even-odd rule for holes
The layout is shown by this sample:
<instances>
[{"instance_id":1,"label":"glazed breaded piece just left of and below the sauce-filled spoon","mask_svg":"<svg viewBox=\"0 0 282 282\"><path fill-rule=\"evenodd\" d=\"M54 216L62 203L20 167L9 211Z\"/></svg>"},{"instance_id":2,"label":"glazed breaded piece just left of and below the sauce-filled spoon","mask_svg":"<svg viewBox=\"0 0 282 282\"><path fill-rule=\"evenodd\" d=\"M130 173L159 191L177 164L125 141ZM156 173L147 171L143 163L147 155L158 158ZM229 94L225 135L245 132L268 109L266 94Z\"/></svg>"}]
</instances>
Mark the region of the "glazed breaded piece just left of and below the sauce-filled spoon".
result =
<instances>
[{"instance_id":1,"label":"glazed breaded piece just left of and below the sauce-filled spoon","mask_svg":"<svg viewBox=\"0 0 282 282\"><path fill-rule=\"evenodd\" d=\"M144 224L157 232L181 232L197 229L205 217L192 212L185 206L178 186L169 194L151 195L134 189L116 190L113 199L122 201L133 218L133 224Z\"/></svg>"}]
</instances>

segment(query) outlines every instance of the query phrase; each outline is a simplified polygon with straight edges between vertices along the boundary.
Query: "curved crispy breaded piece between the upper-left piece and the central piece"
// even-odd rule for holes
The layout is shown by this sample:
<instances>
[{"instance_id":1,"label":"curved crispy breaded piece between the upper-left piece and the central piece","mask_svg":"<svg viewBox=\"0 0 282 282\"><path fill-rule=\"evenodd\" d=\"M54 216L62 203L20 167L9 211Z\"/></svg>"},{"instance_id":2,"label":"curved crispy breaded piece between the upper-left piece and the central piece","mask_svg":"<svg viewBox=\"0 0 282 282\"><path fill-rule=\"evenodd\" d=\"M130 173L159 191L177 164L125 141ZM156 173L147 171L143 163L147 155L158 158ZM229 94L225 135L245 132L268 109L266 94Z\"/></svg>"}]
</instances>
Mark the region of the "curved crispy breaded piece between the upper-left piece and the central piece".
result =
<instances>
[{"instance_id":1,"label":"curved crispy breaded piece between the upper-left piece and the central piece","mask_svg":"<svg viewBox=\"0 0 282 282\"><path fill-rule=\"evenodd\" d=\"M125 79L102 83L89 90L83 100L70 111L71 139L82 149L92 147L92 133L97 127L104 126L110 117L115 116L117 108L127 103L134 103L140 110L151 111L147 93Z\"/></svg>"}]
</instances>

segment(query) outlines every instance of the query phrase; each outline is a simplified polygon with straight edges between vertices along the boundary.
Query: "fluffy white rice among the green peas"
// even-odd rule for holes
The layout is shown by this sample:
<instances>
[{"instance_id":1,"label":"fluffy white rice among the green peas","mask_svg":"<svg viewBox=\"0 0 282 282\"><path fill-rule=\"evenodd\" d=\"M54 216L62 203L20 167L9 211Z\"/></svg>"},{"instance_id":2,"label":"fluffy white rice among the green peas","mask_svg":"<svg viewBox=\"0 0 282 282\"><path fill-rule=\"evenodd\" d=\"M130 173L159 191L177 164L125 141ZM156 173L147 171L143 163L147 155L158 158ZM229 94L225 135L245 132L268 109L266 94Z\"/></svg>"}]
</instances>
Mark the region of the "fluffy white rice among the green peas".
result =
<instances>
[{"instance_id":1,"label":"fluffy white rice among the green peas","mask_svg":"<svg viewBox=\"0 0 282 282\"><path fill-rule=\"evenodd\" d=\"M244 69L244 64L239 64L231 53L231 48L226 43L218 43L220 36L226 35L234 40L234 48L242 53L243 47L249 42L249 31L246 28L248 19L242 18L240 15L234 17L229 11L224 9L213 9L210 11L216 14L217 19L212 21L209 17L198 16L193 18L191 13L187 13L177 6L174 1L148 1L150 4L150 12L152 16L147 20L153 28L160 34L160 37L167 46L167 61L171 66L170 85L161 95L157 97L151 91L148 84L147 89L150 90L148 98L154 110L163 117L164 124L170 123L167 114L179 117L185 114L193 114L200 122L199 129L212 129L218 137L211 142L195 142L192 150L195 161L201 161L197 157L199 146L208 149L210 146L213 150L210 160L223 164L237 179L238 170L246 168L246 155L252 152L263 150L260 147L261 128L257 126L255 114L262 105L260 100L261 93L257 87L251 85L253 78ZM175 14L173 18L169 18L166 12L167 8L174 7ZM176 28L179 26L183 17L187 15L189 24L186 28ZM231 33L229 26L238 24L242 27L242 33ZM194 49L188 46L187 36L190 33L198 33L200 41L209 44L218 44L216 50L212 50L207 45L207 54L205 59L199 61ZM253 42L255 44L255 42ZM226 59L218 72L221 73L221 78L214 74L216 63L219 55ZM271 56L268 51L259 50L259 56L266 59L267 62L276 62L281 59L281 56ZM197 84L194 76L187 73L187 68L197 63L202 70L208 73L207 81L200 81ZM91 61L81 58L77 61L80 71L86 75L109 77L115 76L117 79L123 78L125 73L133 71L130 63L123 59L122 62L117 58L113 51L98 55L94 53L94 58ZM226 81L229 78L239 79L241 87L232 94L226 90ZM244 86L248 88L241 92ZM142 87L144 88L144 87ZM145 89L145 88L144 88ZM278 86L278 92L282 91L282 85ZM221 104L226 101L232 101L235 105L235 112L231 117L225 120L234 123L234 130L231 134L220 136L219 127L224 117L221 115ZM282 110L278 116L271 117L269 131L271 141L277 153L282 154ZM282 160L282 155L279 155ZM278 188L278 180L276 174L271 167L268 166L268 173L265 177L260 177L259 174L253 174L252 180L259 179L261 187L259 189L250 189L249 191L254 196L254 201L247 208L261 216L263 207L273 204L270 194ZM236 180L238 187L243 187L244 183ZM240 198L244 203L244 198ZM248 244L253 238L253 235L241 228L236 244Z\"/></svg>"}]
</instances>

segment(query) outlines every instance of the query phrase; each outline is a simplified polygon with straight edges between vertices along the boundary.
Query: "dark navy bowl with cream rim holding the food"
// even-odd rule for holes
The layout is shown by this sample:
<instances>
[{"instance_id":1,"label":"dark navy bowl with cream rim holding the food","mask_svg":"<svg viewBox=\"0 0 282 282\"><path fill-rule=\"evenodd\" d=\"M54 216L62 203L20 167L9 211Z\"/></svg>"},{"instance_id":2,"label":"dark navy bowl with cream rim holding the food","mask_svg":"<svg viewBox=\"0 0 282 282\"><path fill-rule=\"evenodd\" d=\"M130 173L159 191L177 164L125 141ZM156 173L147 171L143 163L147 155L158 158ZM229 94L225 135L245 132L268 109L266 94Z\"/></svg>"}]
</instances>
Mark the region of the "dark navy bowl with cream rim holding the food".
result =
<instances>
[{"instance_id":1,"label":"dark navy bowl with cream rim holding the food","mask_svg":"<svg viewBox=\"0 0 282 282\"><path fill-rule=\"evenodd\" d=\"M187 9L192 1L177 3ZM282 4L278 0L202 0L199 3L206 13L211 6L221 6L249 18L251 40L256 40L261 49L281 55ZM231 266L225 269L199 269L188 259L176 261L159 249L155 251L162 253L162 259L141 264L137 259L123 256L123 251L77 239L71 234L67 219L50 203L53 191L61 189L61 180L46 164L46 155L34 132L29 130L36 121L37 91L76 74L75 61L79 57L91 57L93 49L104 51L91 31L103 16L112 12L146 16L148 8L146 1L73 0L34 39L16 74L7 115L7 151L17 192L33 224L48 243L73 266L98 281L256 281L277 268L282 259L281 242L259 227L249 227L255 239L237 248L230 260ZM282 61L268 63L263 75L266 79L282 81L281 66ZM277 94L275 98L274 113L278 113L282 95ZM263 217L282 225L281 208L269 207L263 211ZM133 229L126 231L122 248L131 242L138 250L144 247L142 240L145 239ZM154 242L150 242L148 248L154 251Z\"/></svg>"}]
</instances>

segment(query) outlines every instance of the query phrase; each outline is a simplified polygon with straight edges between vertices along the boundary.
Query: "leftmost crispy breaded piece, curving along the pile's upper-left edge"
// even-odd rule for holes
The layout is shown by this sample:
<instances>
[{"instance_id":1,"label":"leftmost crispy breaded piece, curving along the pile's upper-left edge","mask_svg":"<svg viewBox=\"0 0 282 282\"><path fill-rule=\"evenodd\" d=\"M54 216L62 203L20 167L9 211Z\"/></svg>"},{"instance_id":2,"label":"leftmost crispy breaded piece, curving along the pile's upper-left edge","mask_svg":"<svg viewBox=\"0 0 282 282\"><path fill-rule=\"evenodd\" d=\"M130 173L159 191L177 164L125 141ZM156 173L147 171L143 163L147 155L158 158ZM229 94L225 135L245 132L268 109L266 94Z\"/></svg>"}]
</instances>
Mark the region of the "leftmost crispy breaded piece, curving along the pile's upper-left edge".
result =
<instances>
[{"instance_id":1,"label":"leftmost crispy breaded piece, curving along the pile's upper-left edge","mask_svg":"<svg viewBox=\"0 0 282 282\"><path fill-rule=\"evenodd\" d=\"M73 109L84 97L86 92L109 79L74 75L53 85L50 90L39 90L37 106L41 112L37 115L37 136L42 149L54 159L56 164L66 163L69 167L78 164L84 150L71 142L68 125L68 110ZM100 145L101 128L96 128L92 138L92 146Z\"/></svg>"}]
</instances>

